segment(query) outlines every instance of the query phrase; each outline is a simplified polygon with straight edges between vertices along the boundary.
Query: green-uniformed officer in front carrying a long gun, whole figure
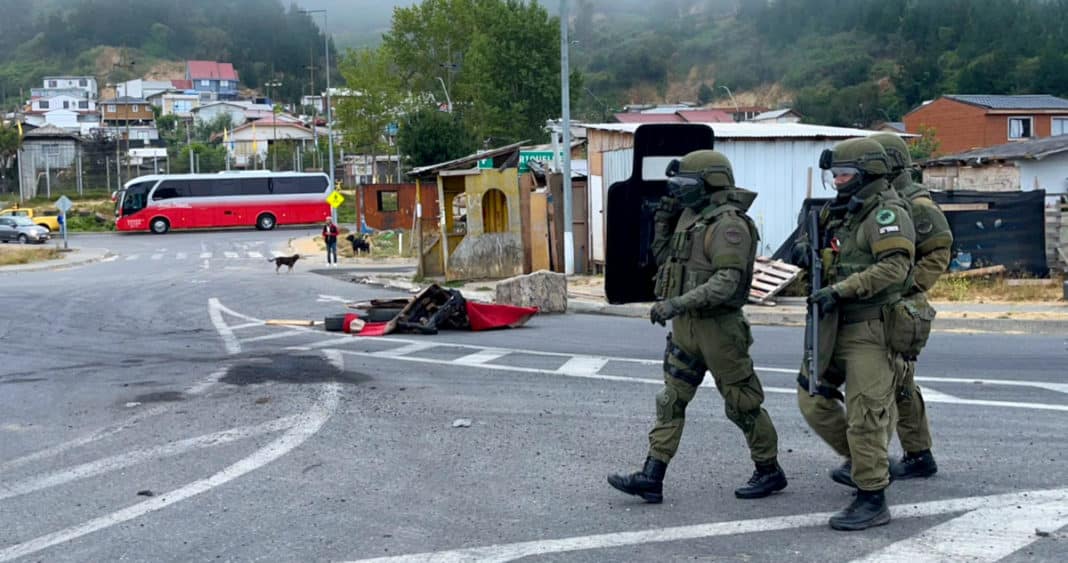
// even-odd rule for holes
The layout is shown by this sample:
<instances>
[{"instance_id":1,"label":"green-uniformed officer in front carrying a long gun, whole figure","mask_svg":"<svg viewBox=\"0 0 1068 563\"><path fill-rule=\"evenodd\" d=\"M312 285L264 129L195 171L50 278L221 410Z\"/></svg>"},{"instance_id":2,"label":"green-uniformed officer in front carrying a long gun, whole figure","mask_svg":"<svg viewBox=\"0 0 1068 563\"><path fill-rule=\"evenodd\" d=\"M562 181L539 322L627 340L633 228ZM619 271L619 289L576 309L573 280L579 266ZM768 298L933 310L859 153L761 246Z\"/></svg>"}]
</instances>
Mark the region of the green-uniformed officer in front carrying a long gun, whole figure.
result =
<instances>
[{"instance_id":1,"label":"green-uniformed officer in front carrying a long gun, whole figure","mask_svg":"<svg viewBox=\"0 0 1068 563\"><path fill-rule=\"evenodd\" d=\"M890 158L878 142L838 143L821 155L820 168L837 190L821 213L820 239L813 241L824 273L822 288L808 297L821 312L821 385L810 395L804 365L798 403L816 434L848 459L858 487L853 502L831 517L831 528L863 530L890 521L886 445L901 360L890 349L883 310L907 288L915 233L908 203L885 179Z\"/></svg>"}]
</instances>

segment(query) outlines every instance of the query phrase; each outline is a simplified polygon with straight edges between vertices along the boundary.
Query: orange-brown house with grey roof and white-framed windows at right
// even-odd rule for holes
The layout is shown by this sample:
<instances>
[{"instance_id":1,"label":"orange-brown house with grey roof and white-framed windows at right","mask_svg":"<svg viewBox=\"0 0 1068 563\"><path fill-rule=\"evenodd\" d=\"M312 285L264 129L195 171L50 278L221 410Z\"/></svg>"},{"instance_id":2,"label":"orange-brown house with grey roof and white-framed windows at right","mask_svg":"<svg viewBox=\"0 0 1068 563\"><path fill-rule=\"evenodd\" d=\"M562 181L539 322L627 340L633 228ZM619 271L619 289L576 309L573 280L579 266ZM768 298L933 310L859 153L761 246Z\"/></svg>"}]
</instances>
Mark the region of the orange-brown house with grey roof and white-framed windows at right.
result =
<instances>
[{"instance_id":1,"label":"orange-brown house with grey roof and white-framed windows at right","mask_svg":"<svg viewBox=\"0 0 1068 563\"><path fill-rule=\"evenodd\" d=\"M905 115L906 130L930 127L942 154L1068 134L1068 99L1049 95L945 95Z\"/></svg>"}]
</instances>

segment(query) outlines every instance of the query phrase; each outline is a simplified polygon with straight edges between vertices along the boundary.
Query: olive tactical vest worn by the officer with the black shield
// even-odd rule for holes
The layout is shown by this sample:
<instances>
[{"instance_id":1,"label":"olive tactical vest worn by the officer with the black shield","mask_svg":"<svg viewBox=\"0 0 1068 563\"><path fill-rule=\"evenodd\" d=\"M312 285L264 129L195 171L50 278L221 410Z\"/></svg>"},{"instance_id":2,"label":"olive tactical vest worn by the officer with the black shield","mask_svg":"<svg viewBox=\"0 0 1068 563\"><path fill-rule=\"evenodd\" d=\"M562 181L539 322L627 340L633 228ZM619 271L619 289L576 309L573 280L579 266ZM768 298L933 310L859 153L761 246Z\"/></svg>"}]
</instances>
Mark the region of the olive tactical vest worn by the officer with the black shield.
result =
<instances>
[{"instance_id":1,"label":"olive tactical vest worn by the officer with the black shield","mask_svg":"<svg viewBox=\"0 0 1068 563\"><path fill-rule=\"evenodd\" d=\"M745 214L739 213L738 207L729 203L712 204L705 207L700 214L696 214L692 223L687 224L688 221L679 220L668 249L668 260L657 272L655 288L657 297L661 299L678 297L701 286L711 279L716 270L723 267L713 264L705 254L705 239L711 236L717 221L727 216L744 219L752 240L738 288L723 303L706 311L692 311L690 314L698 317L712 316L725 311L738 310L745 304L749 300L749 287L753 282L753 262L756 260L756 243L759 240L759 234L752 219Z\"/></svg>"}]
</instances>

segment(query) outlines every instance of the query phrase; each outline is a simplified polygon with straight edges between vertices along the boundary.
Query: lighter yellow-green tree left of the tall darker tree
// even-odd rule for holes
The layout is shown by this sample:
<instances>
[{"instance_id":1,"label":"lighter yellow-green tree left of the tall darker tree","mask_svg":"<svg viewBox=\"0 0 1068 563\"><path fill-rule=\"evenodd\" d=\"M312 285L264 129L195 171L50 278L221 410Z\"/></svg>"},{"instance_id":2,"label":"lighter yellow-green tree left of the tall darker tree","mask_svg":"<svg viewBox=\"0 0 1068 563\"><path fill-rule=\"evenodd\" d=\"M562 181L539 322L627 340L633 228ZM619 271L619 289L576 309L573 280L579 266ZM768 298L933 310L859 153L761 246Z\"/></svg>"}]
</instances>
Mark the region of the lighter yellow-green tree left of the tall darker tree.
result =
<instances>
[{"instance_id":1,"label":"lighter yellow-green tree left of the tall darker tree","mask_svg":"<svg viewBox=\"0 0 1068 563\"><path fill-rule=\"evenodd\" d=\"M405 100L393 59L387 48L357 49L337 65L352 95L337 101L335 119L349 152L384 153L386 127L402 112Z\"/></svg>"}]
</instances>

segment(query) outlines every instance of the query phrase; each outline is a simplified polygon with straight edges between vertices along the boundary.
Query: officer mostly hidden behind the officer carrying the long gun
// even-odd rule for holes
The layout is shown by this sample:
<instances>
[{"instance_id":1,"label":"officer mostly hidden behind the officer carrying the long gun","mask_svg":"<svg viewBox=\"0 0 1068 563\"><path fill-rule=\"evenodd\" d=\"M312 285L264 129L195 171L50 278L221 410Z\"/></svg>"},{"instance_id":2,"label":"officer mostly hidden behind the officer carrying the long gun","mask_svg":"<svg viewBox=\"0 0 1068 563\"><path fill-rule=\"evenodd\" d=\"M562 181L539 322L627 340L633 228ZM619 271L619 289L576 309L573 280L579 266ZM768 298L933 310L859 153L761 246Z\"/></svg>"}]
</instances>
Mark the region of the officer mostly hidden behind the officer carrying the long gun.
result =
<instances>
[{"instance_id":1,"label":"officer mostly hidden behind the officer carrying the long gun","mask_svg":"<svg viewBox=\"0 0 1068 563\"><path fill-rule=\"evenodd\" d=\"M930 192L912 182L909 173L912 156L905 141L889 132L873 135L870 139L881 144L890 156L891 185L911 203L912 224L916 229L916 263L912 267L913 283L905 292L905 298L927 306L926 293L949 267L953 249L949 222ZM905 455L900 462L891 463L890 473L894 479L927 478L938 472L931 454L927 407L920 386L915 384L916 359L909 357L905 360L905 374L899 378L900 388L897 391L897 436Z\"/></svg>"}]
</instances>

